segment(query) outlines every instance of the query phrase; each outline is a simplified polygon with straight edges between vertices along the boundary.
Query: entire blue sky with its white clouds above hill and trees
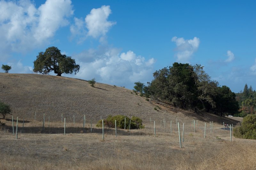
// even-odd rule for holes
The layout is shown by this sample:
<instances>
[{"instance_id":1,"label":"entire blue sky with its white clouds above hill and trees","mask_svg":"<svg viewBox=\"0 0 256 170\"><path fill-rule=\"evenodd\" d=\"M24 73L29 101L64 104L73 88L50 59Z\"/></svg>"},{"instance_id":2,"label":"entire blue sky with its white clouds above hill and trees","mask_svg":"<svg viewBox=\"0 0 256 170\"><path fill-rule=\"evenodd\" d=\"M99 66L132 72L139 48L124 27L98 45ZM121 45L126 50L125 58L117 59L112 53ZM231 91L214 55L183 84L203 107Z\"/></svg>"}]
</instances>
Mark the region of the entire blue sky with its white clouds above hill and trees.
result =
<instances>
[{"instance_id":1,"label":"entire blue sky with its white clouds above hill and trees","mask_svg":"<svg viewBox=\"0 0 256 170\"><path fill-rule=\"evenodd\" d=\"M32 73L38 52L55 46L80 65L67 77L132 89L181 62L201 64L233 92L256 89L255 9L256 1L0 0L0 65Z\"/></svg>"}]
</instances>

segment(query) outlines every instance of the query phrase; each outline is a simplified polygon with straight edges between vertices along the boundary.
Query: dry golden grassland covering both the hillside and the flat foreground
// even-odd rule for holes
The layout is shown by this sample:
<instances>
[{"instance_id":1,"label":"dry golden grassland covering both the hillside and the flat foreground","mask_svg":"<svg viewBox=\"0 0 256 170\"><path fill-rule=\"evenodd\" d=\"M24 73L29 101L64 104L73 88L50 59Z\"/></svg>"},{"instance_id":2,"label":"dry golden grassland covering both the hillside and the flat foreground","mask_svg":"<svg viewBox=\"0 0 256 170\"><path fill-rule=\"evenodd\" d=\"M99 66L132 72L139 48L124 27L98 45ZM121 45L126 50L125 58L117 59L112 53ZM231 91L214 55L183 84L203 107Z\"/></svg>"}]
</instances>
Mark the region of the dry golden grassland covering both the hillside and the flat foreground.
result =
<instances>
[{"instance_id":1,"label":"dry golden grassland covering both the hillside and the flat foreground","mask_svg":"<svg viewBox=\"0 0 256 170\"><path fill-rule=\"evenodd\" d=\"M237 120L146 101L122 87L96 83L92 88L87 81L65 77L0 73L0 100L13 110L1 119L6 129L0 131L0 169L256 169L255 140L232 134L230 142L230 131L223 130L223 121L238 126ZM61 114L67 118L66 135ZM110 114L138 116L145 128L117 129L116 137L115 129L105 127L103 140L96 122ZM18 139L12 132L12 116L15 132L19 117ZM176 118L181 140L184 123L181 148Z\"/></svg>"}]
</instances>

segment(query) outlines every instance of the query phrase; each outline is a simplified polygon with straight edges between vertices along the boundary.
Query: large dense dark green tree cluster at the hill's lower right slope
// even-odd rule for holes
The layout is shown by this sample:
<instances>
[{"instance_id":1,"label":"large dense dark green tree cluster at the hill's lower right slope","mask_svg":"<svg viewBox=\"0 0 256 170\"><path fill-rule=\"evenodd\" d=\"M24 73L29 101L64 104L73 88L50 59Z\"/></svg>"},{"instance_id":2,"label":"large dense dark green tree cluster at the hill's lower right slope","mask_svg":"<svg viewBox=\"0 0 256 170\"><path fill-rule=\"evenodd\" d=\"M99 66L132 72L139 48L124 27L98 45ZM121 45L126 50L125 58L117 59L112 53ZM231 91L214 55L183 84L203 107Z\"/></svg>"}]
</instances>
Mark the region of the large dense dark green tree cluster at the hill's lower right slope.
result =
<instances>
[{"instance_id":1,"label":"large dense dark green tree cluster at the hill's lower right slope","mask_svg":"<svg viewBox=\"0 0 256 170\"><path fill-rule=\"evenodd\" d=\"M204 72L201 65L173 63L153 73L148 82L150 97L168 102L184 109L204 109L224 116L238 111L236 95L227 86L219 86L217 81Z\"/></svg>"}]
</instances>

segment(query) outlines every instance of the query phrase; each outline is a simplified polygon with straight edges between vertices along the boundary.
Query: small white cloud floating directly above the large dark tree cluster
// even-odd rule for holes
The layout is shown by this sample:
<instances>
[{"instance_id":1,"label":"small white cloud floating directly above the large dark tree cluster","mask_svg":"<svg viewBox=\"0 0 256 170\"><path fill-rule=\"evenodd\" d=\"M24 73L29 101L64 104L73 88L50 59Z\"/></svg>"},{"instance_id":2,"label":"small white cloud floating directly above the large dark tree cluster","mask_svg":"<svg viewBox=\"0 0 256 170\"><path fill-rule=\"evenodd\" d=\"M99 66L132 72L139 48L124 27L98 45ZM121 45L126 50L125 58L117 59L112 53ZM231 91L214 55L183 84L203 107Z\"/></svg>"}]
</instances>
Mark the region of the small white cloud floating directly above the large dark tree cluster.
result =
<instances>
[{"instance_id":1,"label":"small white cloud floating directly above the large dark tree cluster","mask_svg":"<svg viewBox=\"0 0 256 170\"><path fill-rule=\"evenodd\" d=\"M178 38L176 36L172 37L172 42L176 43L175 56L177 57L178 62L188 62L190 57L199 47L200 40L197 37L194 37L190 40L185 40L184 38Z\"/></svg>"}]
</instances>

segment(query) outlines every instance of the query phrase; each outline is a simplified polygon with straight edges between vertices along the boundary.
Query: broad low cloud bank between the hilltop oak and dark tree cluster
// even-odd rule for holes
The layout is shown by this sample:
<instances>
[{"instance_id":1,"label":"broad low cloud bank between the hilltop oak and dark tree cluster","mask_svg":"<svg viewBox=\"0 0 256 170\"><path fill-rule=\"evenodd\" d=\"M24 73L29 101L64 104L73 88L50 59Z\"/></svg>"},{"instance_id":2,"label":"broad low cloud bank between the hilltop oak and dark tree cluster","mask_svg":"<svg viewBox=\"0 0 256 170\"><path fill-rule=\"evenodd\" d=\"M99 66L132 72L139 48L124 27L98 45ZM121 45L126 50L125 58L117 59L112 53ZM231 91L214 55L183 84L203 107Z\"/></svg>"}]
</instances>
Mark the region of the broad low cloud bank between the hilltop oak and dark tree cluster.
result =
<instances>
[{"instance_id":1,"label":"broad low cloud bank between the hilltop oak and dark tree cluster","mask_svg":"<svg viewBox=\"0 0 256 170\"><path fill-rule=\"evenodd\" d=\"M92 58L94 56L94 58ZM88 50L74 56L80 65L76 77L132 88L136 81L152 79L154 58L146 60L129 50L120 54L116 48Z\"/></svg>"}]
</instances>

